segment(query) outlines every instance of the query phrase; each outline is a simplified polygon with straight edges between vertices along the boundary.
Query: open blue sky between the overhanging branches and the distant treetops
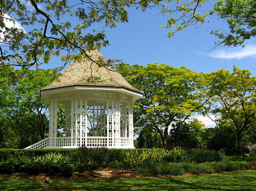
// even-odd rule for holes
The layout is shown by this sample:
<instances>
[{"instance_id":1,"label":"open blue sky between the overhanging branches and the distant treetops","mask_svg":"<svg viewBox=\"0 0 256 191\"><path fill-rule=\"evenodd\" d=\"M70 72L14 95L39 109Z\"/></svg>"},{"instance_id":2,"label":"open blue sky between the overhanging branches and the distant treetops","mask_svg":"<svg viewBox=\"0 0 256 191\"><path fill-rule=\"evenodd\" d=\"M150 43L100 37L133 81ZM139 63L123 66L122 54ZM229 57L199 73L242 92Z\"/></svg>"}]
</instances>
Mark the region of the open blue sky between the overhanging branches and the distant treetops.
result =
<instances>
[{"instance_id":1,"label":"open blue sky between the overhanging branches and the distant treetops","mask_svg":"<svg viewBox=\"0 0 256 191\"><path fill-rule=\"evenodd\" d=\"M210 7L207 3L206 7ZM104 29L110 46L101 50L106 58L122 59L130 65L146 66L148 63L167 64L174 67L185 66L198 73L209 73L226 68L232 71L233 65L249 69L256 75L256 42L248 41L243 47L223 47L215 49L218 39L210 31L225 29L226 23L210 16L204 28L191 26L176 33L173 38L166 36L168 30L160 28L168 16L156 10L141 12L131 10L129 23L119 23L114 29ZM212 50L213 49L213 50Z\"/></svg>"}]
</instances>

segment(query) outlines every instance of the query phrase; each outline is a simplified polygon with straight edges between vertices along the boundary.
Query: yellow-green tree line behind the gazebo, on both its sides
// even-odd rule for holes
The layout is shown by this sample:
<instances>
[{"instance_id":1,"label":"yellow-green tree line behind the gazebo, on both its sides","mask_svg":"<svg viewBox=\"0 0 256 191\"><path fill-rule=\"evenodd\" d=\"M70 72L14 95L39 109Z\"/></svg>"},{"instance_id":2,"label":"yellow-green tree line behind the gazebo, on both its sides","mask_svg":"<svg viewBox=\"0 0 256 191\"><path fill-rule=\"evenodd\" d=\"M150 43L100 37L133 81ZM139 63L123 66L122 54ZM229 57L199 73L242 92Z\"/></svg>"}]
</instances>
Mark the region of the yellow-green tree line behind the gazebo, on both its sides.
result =
<instances>
[{"instance_id":1,"label":"yellow-green tree line behind the gazebo, on both its sides","mask_svg":"<svg viewBox=\"0 0 256 191\"><path fill-rule=\"evenodd\" d=\"M249 153L256 143L256 78L234 66L208 74L165 64L117 69L143 92L134 103L138 148L205 148L227 155ZM49 103L39 89L58 73L51 69L0 70L0 148L25 148L48 136ZM214 128L205 128L195 114L216 116ZM58 127L65 111L58 112Z\"/></svg>"}]
</instances>

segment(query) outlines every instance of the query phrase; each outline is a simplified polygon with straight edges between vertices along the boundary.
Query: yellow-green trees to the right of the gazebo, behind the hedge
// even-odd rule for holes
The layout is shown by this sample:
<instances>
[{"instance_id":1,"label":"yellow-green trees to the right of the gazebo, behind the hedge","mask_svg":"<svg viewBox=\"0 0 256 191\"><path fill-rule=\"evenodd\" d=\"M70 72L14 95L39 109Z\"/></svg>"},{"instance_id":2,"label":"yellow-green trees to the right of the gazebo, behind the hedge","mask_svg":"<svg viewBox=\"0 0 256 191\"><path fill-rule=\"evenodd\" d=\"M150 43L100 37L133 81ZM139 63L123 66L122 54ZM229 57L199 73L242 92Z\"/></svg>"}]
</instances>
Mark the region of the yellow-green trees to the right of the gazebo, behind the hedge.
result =
<instances>
[{"instance_id":1,"label":"yellow-green trees to the right of the gazebo, behind the hedge","mask_svg":"<svg viewBox=\"0 0 256 191\"><path fill-rule=\"evenodd\" d=\"M232 73L199 74L165 64L120 64L118 69L144 93L134 103L139 148L205 148L243 155L255 144L256 78L249 70L234 66ZM204 128L194 114L216 116L216 127Z\"/></svg>"}]
</instances>

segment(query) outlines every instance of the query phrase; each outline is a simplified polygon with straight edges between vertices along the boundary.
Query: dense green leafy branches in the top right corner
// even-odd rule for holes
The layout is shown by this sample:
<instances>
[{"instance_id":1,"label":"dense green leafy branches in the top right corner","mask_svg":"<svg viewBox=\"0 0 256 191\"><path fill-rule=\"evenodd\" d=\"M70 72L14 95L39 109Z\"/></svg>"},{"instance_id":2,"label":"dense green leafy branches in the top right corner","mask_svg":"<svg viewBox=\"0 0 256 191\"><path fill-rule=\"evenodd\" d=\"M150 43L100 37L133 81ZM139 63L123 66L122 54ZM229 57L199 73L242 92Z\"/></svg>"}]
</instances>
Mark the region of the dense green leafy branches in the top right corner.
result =
<instances>
[{"instance_id":1,"label":"dense green leafy branches in the top right corner","mask_svg":"<svg viewBox=\"0 0 256 191\"><path fill-rule=\"evenodd\" d=\"M220 38L218 44L227 46L243 45L246 40L256 36L256 5L254 0L225 0L218 1L210 14L216 13L224 19L228 31L212 31Z\"/></svg>"}]
</instances>

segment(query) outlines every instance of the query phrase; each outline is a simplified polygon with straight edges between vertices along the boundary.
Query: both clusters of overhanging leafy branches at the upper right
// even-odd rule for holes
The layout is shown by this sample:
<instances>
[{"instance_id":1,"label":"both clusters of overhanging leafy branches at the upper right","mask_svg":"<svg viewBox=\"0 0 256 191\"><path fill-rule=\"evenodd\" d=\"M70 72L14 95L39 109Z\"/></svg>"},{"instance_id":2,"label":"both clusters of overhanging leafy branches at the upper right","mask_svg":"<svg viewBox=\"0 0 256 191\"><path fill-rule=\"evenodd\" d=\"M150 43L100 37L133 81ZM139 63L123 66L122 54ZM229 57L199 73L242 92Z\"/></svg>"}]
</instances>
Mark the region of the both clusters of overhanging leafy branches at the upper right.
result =
<instances>
[{"instance_id":1,"label":"both clusters of overhanging leafy branches at the upper right","mask_svg":"<svg viewBox=\"0 0 256 191\"><path fill-rule=\"evenodd\" d=\"M215 15L216 19L227 22L228 29L211 31L211 34L220 39L216 42L217 45L244 46L246 40L256 36L256 5L254 0L219 0L214 3L211 10L204 9L205 2L208 1L192 0L178 4L173 10L173 12L178 13L178 16L169 18L164 26L166 29L173 29L168 33L168 36L172 37L176 32L191 25L204 26L205 22L208 23L206 20L208 15ZM168 9L163 9L162 12L173 13Z\"/></svg>"}]
</instances>

